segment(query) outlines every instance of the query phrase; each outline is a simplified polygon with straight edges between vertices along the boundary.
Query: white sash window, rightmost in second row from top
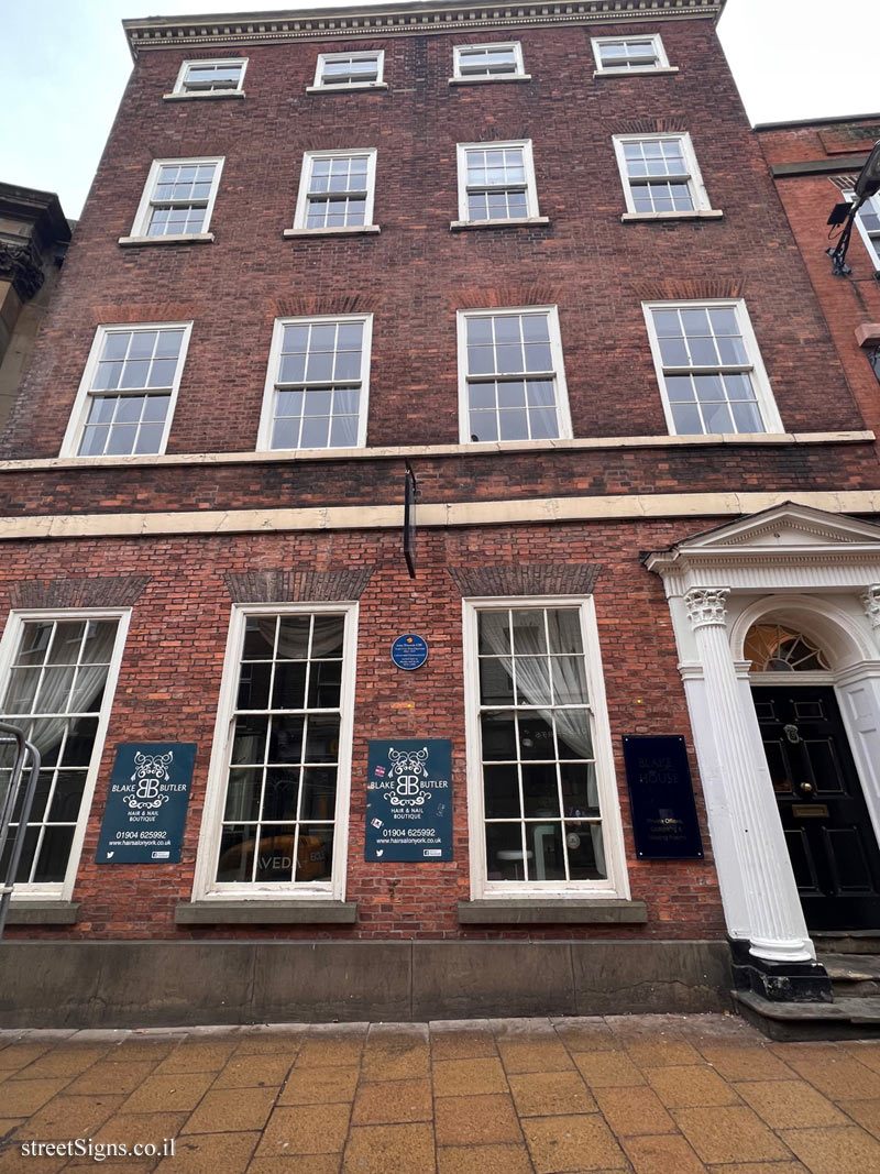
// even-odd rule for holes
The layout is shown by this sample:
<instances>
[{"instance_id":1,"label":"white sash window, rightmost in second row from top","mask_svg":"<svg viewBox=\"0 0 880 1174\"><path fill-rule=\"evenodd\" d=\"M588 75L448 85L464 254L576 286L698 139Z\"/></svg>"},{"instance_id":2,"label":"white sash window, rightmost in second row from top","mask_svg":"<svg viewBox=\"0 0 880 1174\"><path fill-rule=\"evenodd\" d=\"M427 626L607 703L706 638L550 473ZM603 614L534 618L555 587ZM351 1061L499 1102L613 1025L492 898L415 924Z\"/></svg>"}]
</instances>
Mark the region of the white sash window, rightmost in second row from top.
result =
<instances>
[{"instance_id":1,"label":"white sash window, rightmost in second row from top","mask_svg":"<svg viewBox=\"0 0 880 1174\"><path fill-rule=\"evenodd\" d=\"M709 210L690 135L616 135L615 150L630 212Z\"/></svg>"}]
</instances>

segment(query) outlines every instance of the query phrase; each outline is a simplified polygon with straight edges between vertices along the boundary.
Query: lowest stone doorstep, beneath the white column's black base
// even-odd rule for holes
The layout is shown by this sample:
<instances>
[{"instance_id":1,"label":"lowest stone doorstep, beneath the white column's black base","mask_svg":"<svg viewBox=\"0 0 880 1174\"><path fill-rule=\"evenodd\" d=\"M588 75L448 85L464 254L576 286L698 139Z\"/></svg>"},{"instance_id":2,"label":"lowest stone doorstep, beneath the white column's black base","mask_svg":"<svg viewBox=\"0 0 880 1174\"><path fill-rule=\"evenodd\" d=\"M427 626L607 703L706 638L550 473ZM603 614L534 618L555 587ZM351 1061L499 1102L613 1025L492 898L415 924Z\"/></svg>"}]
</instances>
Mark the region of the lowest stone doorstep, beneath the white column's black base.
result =
<instances>
[{"instance_id":1,"label":"lowest stone doorstep, beneath the white column's black base","mask_svg":"<svg viewBox=\"0 0 880 1174\"><path fill-rule=\"evenodd\" d=\"M772 1039L880 1039L880 999L773 1003L753 991L731 991L737 1011Z\"/></svg>"}]
</instances>

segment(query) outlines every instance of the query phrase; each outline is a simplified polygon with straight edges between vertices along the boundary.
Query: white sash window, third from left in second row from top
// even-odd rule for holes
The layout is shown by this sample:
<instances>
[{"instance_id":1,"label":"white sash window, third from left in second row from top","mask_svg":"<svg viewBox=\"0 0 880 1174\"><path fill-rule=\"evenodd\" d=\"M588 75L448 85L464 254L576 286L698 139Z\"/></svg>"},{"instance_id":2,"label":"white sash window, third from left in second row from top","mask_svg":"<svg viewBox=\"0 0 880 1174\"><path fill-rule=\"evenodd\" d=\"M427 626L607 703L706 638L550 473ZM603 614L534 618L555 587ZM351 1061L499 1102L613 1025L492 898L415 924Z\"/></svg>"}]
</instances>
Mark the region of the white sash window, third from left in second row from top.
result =
<instances>
[{"instance_id":1,"label":"white sash window, third from left in second row from top","mask_svg":"<svg viewBox=\"0 0 880 1174\"><path fill-rule=\"evenodd\" d=\"M466 223L537 216L532 140L459 143L459 218Z\"/></svg>"}]
</instances>

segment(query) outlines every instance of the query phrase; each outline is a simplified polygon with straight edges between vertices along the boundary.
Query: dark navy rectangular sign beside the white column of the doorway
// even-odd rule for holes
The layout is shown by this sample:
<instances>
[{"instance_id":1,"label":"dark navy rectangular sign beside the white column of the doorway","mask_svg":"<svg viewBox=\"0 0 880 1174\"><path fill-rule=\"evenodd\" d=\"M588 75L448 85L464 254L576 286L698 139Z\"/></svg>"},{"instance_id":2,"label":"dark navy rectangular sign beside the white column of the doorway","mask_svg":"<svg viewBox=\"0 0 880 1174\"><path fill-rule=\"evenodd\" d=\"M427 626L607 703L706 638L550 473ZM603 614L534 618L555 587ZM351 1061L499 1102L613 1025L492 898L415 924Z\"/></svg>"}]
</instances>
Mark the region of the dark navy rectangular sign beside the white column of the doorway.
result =
<instances>
[{"instance_id":1,"label":"dark navy rectangular sign beside the white column of the doorway","mask_svg":"<svg viewBox=\"0 0 880 1174\"><path fill-rule=\"evenodd\" d=\"M703 859L688 753L681 735L623 738L636 856Z\"/></svg>"}]
</instances>

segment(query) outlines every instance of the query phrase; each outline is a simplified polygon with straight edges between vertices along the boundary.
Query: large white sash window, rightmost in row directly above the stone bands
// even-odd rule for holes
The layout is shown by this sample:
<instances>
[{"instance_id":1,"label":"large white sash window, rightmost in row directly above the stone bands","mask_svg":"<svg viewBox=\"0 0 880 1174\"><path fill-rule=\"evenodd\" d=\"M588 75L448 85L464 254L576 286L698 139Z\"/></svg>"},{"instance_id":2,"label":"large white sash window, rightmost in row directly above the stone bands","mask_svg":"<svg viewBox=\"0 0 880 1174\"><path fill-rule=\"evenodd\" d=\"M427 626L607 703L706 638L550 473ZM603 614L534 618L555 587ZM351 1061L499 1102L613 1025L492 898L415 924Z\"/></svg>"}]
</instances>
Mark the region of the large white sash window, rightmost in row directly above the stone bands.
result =
<instances>
[{"instance_id":1,"label":"large white sash window, rightmost in row directly above the stone bands","mask_svg":"<svg viewBox=\"0 0 880 1174\"><path fill-rule=\"evenodd\" d=\"M670 432L781 432L742 302L657 302L648 332Z\"/></svg>"}]
</instances>

